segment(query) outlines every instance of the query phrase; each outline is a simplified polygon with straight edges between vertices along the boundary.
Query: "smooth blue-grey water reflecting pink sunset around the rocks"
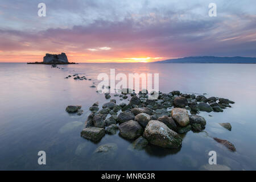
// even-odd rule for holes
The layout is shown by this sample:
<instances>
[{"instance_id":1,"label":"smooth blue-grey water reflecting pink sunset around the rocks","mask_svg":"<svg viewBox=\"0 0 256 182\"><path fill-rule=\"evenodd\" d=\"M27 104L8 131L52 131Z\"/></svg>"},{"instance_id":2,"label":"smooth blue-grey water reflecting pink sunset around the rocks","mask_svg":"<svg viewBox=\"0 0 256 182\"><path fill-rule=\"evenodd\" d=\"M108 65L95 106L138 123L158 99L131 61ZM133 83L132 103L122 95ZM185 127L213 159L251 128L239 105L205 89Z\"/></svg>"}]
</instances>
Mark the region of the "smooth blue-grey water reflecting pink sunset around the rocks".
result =
<instances>
[{"instance_id":1,"label":"smooth blue-grey water reflecting pink sunset around the rocks","mask_svg":"<svg viewBox=\"0 0 256 182\"><path fill-rule=\"evenodd\" d=\"M197 170L208 164L208 152L217 152L217 164L233 170L256 169L256 64L0 64L0 162L1 170ZM99 73L159 73L159 90L168 93L207 93L229 98L236 104L223 113L201 112L204 132L182 135L177 150L148 145L128 150L130 141L105 135L99 143L80 137L89 106L108 102L90 88ZM79 73L89 80L65 79ZM119 101L119 97L112 98ZM128 102L128 101L125 101ZM68 114L67 105L82 105L84 114ZM212 117L209 116L212 115ZM230 122L232 131L218 123ZM231 152L211 137L229 140ZM116 143L118 150L96 156L94 150ZM38 151L46 151L46 165L38 164Z\"/></svg>"}]
</instances>

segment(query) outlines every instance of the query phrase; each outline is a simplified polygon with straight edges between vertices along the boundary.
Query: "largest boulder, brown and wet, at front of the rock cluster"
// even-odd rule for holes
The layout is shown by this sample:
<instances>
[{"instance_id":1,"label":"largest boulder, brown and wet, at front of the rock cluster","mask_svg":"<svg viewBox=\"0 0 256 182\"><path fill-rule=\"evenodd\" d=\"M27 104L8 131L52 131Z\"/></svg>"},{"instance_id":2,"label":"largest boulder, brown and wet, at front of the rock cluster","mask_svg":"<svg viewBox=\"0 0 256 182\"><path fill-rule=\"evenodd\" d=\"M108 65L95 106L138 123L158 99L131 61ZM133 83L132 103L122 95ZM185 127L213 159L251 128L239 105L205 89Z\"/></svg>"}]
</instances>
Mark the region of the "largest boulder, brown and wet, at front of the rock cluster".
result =
<instances>
[{"instance_id":1,"label":"largest boulder, brown and wet, at front of the rock cluster","mask_svg":"<svg viewBox=\"0 0 256 182\"><path fill-rule=\"evenodd\" d=\"M169 129L164 123L152 120L148 122L143 137L149 143L165 148L177 148L181 145L182 139L179 135Z\"/></svg>"}]
</instances>

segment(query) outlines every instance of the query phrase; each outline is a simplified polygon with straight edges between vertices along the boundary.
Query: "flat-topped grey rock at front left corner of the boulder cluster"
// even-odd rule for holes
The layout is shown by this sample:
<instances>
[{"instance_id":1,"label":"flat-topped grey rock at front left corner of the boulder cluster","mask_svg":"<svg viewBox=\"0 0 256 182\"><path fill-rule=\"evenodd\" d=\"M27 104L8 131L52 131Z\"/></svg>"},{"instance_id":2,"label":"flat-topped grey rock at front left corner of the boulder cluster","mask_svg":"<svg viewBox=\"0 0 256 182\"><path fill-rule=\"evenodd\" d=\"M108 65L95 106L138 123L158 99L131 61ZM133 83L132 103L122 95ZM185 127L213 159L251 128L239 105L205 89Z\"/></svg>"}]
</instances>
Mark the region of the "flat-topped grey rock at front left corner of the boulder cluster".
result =
<instances>
[{"instance_id":1,"label":"flat-topped grey rock at front left corner of the boulder cluster","mask_svg":"<svg viewBox=\"0 0 256 182\"><path fill-rule=\"evenodd\" d=\"M105 135L105 130L100 127L86 127L81 131L81 137L98 142Z\"/></svg>"}]
</instances>

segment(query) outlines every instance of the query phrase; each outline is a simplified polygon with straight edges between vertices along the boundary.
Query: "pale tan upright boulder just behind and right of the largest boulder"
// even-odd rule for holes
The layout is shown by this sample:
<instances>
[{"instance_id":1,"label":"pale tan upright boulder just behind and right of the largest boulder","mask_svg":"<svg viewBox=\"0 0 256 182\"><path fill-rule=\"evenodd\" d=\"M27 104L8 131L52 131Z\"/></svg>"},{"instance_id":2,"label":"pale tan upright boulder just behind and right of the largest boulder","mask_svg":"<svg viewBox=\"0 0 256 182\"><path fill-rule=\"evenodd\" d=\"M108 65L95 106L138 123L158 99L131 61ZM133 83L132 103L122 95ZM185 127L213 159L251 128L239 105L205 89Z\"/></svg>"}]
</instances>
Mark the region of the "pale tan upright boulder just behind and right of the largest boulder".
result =
<instances>
[{"instance_id":1,"label":"pale tan upright boulder just behind and right of the largest boulder","mask_svg":"<svg viewBox=\"0 0 256 182\"><path fill-rule=\"evenodd\" d=\"M172 109L172 118L180 125L186 126L189 124L188 111L186 109L174 108Z\"/></svg>"}]
</instances>

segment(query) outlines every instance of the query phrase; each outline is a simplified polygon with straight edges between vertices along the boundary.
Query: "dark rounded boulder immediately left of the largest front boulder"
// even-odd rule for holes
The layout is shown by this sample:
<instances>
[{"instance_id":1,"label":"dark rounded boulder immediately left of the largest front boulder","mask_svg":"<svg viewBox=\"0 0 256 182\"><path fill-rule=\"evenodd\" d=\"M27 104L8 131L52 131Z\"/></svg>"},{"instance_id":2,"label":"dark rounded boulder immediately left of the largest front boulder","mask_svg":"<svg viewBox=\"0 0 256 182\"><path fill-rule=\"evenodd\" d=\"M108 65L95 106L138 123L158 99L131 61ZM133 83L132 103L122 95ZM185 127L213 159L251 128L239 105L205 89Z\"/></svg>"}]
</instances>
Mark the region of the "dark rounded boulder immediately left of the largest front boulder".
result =
<instances>
[{"instance_id":1,"label":"dark rounded boulder immediately left of the largest front boulder","mask_svg":"<svg viewBox=\"0 0 256 182\"><path fill-rule=\"evenodd\" d=\"M143 129L137 121L127 121L119 125L120 135L123 138L134 140L142 135Z\"/></svg>"}]
</instances>

